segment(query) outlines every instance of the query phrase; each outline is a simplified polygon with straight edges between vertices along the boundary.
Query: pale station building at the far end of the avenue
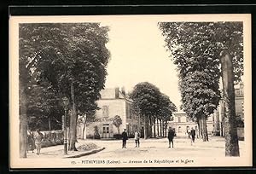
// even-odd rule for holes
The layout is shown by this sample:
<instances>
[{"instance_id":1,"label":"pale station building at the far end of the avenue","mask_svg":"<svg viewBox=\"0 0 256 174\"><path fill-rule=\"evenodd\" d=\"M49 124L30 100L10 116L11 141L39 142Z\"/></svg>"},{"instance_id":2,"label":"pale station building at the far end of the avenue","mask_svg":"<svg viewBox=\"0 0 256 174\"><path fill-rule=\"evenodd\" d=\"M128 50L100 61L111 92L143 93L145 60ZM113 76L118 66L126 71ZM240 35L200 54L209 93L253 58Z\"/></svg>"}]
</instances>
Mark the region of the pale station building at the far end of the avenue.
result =
<instances>
[{"instance_id":1,"label":"pale station building at the far end of the avenue","mask_svg":"<svg viewBox=\"0 0 256 174\"><path fill-rule=\"evenodd\" d=\"M176 112L173 113L173 120L168 122L168 126L175 129L177 136L186 136L187 131L192 127L195 130L198 130L198 125L192 119L187 117L185 112ZM208 134L212 134L213 131L213 122L212 115L207 118L207 131Z\"/></svg>"}]
</instances>

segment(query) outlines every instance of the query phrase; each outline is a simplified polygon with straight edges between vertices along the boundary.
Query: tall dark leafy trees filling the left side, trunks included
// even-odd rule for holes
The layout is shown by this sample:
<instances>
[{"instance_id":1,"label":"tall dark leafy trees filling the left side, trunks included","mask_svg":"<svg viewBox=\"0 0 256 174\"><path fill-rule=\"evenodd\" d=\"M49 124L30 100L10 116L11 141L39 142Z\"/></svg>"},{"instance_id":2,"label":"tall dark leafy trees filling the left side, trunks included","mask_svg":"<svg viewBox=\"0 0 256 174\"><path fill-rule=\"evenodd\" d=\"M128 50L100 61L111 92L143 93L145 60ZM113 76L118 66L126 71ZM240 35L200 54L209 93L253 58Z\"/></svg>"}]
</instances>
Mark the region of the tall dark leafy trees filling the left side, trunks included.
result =
<instances>
[{"instance_id":1,"label":"tall dark leafy trees filling the left side, trunks included","mask_svg":"<svg viewBox=\"0 0 256 174\"><path fill-rule=\"evenodd\" d=\"M91 115L97 109L96 100L104 88L110 56L105 46L108 27L20 24L19 37L20 157L26 158L27 118L38 119L41 113L61 117L64 96L70 101L69 150L76 150L78 115Z\"/></svg>"}]
</instances>

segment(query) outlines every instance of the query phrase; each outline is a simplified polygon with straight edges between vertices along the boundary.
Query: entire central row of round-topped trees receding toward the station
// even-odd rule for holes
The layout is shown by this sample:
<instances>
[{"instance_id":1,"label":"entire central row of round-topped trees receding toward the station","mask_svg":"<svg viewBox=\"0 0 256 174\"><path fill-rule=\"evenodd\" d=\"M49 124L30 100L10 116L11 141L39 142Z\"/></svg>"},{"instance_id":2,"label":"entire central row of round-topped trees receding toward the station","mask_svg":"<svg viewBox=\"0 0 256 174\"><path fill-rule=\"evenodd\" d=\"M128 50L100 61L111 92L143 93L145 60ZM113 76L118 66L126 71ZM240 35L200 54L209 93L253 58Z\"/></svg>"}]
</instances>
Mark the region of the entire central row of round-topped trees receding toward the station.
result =
<instances>
[{"instance_id":1,"label":"entire central row of round-topped trees receding toward the station","mask_svg":"<svg viewBox=\"0 0 256 174\"><path fill-rule=\"evenodd\" d=\"M154 136L156 136L155 123L159 122L160 135L164 136L164 125L167 125L168 120L173 119L172 112L177 111L177 107L170 98L161 93L154 84L148 82L135 85L129 96L133 100L132 110L144 122L144 138L153 136L152 127L154 127Z\"/></svg>"}]
</instances>

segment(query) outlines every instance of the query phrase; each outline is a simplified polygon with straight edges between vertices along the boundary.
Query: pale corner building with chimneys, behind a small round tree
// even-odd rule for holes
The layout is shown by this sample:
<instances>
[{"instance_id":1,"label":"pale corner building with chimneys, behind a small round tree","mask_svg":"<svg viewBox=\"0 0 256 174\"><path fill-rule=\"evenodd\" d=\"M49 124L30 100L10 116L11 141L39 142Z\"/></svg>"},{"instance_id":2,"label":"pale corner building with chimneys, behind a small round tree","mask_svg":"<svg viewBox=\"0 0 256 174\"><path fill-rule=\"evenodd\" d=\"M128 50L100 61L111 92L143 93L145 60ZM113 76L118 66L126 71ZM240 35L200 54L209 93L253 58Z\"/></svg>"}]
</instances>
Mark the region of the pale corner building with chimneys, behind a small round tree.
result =
<instances>
[{"instance_id":1,"label":"pale corner building with chimneys, behind a small round tree","mask_svg":"<svg viewBox=\"0 0 256 174\"><path fill-rule=\"evenodd\" d=\"M100 110L96 111L95 119L86 126L87 137L93 137L95 126L101 138L113 138L126 129L128 136L138 127L138 117L131 113L131 99L125 94L125 90L119 88L105 89L101 91L101 99L97 101ZM118 128L113 125L114 116L119 115L122 125ZM81 138L83 125L78 125L78 137Z\"/></svg>"}]
</instances>

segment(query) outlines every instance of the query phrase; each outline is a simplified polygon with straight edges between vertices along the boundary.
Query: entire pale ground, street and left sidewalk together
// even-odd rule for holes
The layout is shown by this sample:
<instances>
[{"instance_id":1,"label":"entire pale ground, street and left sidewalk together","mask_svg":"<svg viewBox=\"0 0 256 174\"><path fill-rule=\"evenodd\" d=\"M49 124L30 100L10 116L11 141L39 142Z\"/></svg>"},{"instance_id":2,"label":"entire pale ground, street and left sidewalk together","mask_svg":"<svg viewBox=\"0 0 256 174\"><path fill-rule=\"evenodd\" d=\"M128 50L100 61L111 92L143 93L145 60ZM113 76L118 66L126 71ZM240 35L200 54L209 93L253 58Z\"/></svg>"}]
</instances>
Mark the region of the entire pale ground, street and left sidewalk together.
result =
<instances>
[{"instance_id":1,"label":"entire pale ground, street and left sidewalk together","mask_svg":"<svg viewBox=\"0 0 256 174\"><path fill-rule=\"evenodd\" d=\"M32 154L29 152L27 158L81 158L81 159L105 159L123 157L224 157L225 146L224 137L209 136L209 142L202 142L201 139L195 139L191 145L191 140L186 137L174 138L174 148L168 148L167 138L160 139L140 139L140 148L135 148L135 141L131 138L127 141L126 148L122 148L121 140L79 140L76 147L84 143L95 143L99 148L96 150L84 152L70 152L64 155L63 145L42 148L42 154ZM245 155L245 144L239 141L241 156ZM34 151L36 152L36 150Z\"/></svg>"}]
</instances>

